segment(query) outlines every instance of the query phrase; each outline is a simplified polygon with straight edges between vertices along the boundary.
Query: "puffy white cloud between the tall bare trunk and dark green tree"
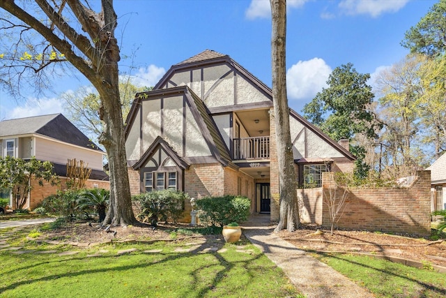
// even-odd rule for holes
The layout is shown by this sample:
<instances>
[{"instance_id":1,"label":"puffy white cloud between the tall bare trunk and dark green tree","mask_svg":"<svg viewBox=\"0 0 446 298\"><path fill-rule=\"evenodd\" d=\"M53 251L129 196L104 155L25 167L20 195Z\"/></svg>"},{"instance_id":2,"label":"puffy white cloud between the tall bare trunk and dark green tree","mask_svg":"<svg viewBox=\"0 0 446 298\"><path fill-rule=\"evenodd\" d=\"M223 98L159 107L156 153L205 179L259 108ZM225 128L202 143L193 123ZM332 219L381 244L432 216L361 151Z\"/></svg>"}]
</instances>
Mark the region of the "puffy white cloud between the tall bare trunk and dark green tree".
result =
<instances>
[{"instance_id":1,"label":"puffy white cloud between the tall bare trunk and dark green tree","mask_svg":"<svg viewBox=\"0 0 446 298\"><path fill-rule=\"evenodd\" d=\"M326 81L332 73L330 66L321 58L299 61L286 71L288 97L295 100L308 100L327 86Z\"/></svg>"}]
</instances>

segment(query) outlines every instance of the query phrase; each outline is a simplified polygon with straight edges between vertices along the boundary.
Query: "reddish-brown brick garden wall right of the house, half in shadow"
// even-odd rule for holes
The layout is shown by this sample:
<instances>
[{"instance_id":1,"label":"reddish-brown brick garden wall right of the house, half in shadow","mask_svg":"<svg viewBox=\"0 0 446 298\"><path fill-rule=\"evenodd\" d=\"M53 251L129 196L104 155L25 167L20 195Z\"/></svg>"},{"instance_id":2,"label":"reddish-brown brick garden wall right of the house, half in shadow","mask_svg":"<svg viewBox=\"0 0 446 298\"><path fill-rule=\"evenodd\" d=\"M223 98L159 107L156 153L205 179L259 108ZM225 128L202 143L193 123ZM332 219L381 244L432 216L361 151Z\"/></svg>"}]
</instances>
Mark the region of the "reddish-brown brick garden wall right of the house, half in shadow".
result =
<instances>
[{"instance_id":1,"label":"reddish-brown brick garden wall right of the house, half in shadow","mask_svg":"<svg viewBox=\"0 0 446 298\"><path fill-rule=\"evenodd\" d=\"M348 195L344 214L335 227L430 234L430 172L419 171L417 176L418 178L408 188L353 188ZM324 173L323 191L325 195L329 195L330 184L333 184L332 173ZM299 191L302 193L301 197L309 200L306 203L309 206L316 206L321 200L321 193L318 195L314 193L317 190ZM314 202L315 200L317 202ZM322 208L322 225L329 227L328 208L325 204Z\"/></svg>"}]
</instances>

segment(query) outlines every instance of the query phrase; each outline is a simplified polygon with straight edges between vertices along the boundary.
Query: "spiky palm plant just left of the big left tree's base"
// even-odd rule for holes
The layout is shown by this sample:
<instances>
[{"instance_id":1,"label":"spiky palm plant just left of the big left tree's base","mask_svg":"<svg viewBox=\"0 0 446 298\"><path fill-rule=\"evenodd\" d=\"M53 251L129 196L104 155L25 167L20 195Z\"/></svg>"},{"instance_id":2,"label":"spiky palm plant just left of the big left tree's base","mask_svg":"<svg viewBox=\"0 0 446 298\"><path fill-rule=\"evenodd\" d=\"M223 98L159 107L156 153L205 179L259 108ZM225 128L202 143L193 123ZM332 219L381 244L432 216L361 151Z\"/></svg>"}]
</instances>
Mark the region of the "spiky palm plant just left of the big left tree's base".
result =
<instances>
[{"instance_id":1,"label":"spiky palm plant just left of the big left tree's base","mask_svg":"<svg viewBox=\"0 0 446 298\"><path fill-rule=\"evenodd\" d=\"M77 207L82 210L93 209L98 213L99 222L104 221L109 205L110 191L103 188L94 188L85 191L79 196Z\"/></svg>"}]
</instances>

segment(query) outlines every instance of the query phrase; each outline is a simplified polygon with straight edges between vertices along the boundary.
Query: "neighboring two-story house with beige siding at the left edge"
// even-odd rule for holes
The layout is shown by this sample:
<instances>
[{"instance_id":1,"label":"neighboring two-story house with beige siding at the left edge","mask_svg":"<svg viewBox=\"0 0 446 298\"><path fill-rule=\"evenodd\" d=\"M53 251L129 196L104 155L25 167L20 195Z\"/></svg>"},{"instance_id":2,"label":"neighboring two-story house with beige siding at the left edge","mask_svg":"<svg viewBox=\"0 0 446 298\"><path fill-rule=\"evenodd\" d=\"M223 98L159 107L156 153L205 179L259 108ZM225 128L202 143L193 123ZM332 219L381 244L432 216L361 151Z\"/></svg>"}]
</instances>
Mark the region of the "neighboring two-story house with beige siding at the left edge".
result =
<instances>
[{"instance_id":1,"label":"neighboring two-story house with beige siding at the left edge","mask_svg":"<svg viewBox=\"0 0 446 298\"><path fill-rule=\"evenodd\" d=\"M108 189L109 177L102 170L104 155L104 151L63 114L0 121L0 156L14 156L24 160L35 156L39 161L50 161L54 165L54 172L61 179L59 186L33 186L24 208L34 209L48 195L66 188L68 159L84 161L92 169L86 187ZM14 204L15 200L11 198L10 206L13 209Z\"/></svg>"}]
</instances>

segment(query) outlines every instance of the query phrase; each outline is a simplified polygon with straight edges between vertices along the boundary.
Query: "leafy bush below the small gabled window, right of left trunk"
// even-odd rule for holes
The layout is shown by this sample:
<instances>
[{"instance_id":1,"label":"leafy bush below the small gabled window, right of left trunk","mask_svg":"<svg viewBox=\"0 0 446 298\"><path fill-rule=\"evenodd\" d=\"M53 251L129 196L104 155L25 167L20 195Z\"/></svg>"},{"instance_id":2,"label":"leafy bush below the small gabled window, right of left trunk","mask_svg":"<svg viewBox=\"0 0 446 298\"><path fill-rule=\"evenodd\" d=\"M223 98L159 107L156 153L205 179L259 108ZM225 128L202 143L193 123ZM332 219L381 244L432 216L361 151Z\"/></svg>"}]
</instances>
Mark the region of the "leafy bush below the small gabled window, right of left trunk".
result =
<instances>
[{"instance_id":1,"label":"leafy bush below the small gabled window, right of left trunk","mask_svg":"<svg viewBox=\"0 0 446 298\"><path fill-rule=\"evenodd\" d=\"M187 195L181 191L164 189L134 196L133 200L141 203L142 212L137 218L143 222L157 225L158 221L167 222L169 218L176 223L184 210Z\"/></svg>"}]
</instances>

